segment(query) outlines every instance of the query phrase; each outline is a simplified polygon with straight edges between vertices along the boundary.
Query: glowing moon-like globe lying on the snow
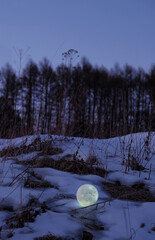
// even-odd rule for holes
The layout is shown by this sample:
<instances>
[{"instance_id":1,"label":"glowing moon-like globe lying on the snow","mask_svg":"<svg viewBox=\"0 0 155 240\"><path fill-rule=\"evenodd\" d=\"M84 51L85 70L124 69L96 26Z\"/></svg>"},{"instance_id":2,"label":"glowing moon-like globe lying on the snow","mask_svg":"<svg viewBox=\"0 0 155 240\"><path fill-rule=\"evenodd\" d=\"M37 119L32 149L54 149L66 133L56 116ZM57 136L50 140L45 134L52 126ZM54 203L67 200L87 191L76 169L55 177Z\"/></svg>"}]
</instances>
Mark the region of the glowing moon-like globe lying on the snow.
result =
<instances>
[{"instance_id":1,"label":"glowing moon-like globe lying on the snow","mask_svg":"<svg viewBox=\"0 0 155 240\"><path fill-rule=\"evenodd\" d=\"M77 190L76 197L82 207L88 207L97 202L98 191L93 185L84 184Z\"/></svg>"}]
</instances>

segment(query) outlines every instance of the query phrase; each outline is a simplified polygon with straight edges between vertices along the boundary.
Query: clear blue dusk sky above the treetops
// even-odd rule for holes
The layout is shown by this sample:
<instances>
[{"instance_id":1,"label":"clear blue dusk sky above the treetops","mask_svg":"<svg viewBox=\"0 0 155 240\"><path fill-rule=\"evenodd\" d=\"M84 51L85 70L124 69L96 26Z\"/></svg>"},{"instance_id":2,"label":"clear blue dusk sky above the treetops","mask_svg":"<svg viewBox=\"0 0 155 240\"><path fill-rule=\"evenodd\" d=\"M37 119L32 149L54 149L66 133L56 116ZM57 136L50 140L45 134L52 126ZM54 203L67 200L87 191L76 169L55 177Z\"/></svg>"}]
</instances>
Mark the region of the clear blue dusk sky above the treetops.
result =
<instances>
[{"instance_id":1,"label":"clear blue dusk sky above the treetops","mask_svg":"<svg viewBox=\"0 0 155 240\"><path fill-rule=\"evenodd\" d=\"M155 0L0 0L0 68L16 68L13 48L53 67L73 48L79 62L85 56L108 69L117 62L148 71L155 63Z\"/></svg>"}]
</instances>

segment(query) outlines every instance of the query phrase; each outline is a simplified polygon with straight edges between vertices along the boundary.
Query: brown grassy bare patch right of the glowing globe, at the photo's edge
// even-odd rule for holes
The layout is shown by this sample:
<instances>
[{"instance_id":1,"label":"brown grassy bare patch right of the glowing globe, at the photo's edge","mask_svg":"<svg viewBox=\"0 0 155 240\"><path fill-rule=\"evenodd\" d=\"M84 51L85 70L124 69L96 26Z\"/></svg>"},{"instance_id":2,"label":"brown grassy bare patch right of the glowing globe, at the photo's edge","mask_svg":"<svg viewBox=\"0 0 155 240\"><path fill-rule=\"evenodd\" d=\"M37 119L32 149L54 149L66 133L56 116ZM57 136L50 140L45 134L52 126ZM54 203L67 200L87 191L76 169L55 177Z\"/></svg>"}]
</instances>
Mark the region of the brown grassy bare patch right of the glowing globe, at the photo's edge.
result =
<instances>
[{"instance_id":1,"label":"brown grassy bare patch right of the glowing globe, at the photo's edge","mask_svg":"<svg viewBox=\"0 0 155 240\"><path fill-rule=\"evenodd\" d=\"M102 183L104 190L107 191L112 198L137 202L155 202L155 196L150 193L144 183L136 183L131 187L121 185L119 181L116 183L103 181Z\"/></svg>"}]
</instances>

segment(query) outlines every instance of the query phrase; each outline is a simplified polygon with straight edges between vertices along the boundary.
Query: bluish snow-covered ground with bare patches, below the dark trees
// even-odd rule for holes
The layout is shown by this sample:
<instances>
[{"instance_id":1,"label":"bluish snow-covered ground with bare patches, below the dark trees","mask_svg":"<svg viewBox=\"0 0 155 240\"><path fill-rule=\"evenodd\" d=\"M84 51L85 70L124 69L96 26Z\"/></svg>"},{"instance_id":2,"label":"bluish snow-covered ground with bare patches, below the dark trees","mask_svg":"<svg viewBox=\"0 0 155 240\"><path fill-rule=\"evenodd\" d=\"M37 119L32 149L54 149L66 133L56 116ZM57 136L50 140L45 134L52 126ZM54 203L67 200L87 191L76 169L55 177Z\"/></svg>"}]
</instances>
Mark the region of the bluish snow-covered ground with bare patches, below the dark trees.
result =
<instances>
[{"instance_id":1,"label":"bluish snow-covered ground with bare patches, below the dark trees","mask_svg":"<svg viewBox=\"0 0 155 240\"><path fill-rule=\"evenodd\" d=\"M155 202L120 200L105 191L103 185L104 181L119 181L126 186L143 182L155 195L155 133L106 140L33 135L0 139L0 151L7 147L16 150L22 149L23 145L28 147L38 137L41 142L51 141L54 148L62 149L62 152L46 157L69 161L74 155L75 161L83 159L89 166L104 168L108 173L101 177L19 164L45 157L32 148L14 156L4 154L0 158L0 239L31 240L52 234L62 239L82 240L86 239L84 231L92 234L93 240L155 239ZM97 162L91 162L92 156ZM127 167L128 160L133 159L145 168L138 171ZM32 172L33 176L30 176ZM53 187L24 187L28 176L33 180L48 181ZM98 204L88 208L82 208L76 199L78 188L85 183L94 185L99 192ZM30 205L32 199L34 202ZM23 217L22 227L11 227L15 216L28 210L35 212L34 221L24 222ZM14 221L9 220L11 217Z\"/></svg>"}]
</instances>

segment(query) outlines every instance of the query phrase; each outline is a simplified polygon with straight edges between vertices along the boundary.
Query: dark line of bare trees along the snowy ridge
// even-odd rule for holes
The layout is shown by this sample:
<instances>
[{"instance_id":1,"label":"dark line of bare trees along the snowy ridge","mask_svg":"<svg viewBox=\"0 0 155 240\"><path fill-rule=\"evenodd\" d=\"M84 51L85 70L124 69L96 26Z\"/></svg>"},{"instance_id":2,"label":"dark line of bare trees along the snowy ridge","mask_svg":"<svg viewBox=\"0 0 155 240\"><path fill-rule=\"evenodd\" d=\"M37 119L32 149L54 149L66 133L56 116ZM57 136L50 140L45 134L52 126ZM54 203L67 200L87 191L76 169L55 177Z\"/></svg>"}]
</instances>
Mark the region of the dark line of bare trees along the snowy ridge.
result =
<instances>
[{"instance_id":1,"label":"dark line of bare trees along the snowy ridge","mask_svg":"<svg viewBox=\"0 0 155 240\"><path fill-rule=\"evenodd\" d=\"M108 138L155 130L155 65L146 73L129 65L94 67L86 58L73 66L71 60L56 69L46 58L29 60L20 75L10 64L1 68L1 138Z\"/></svg>"}]
</instances>

